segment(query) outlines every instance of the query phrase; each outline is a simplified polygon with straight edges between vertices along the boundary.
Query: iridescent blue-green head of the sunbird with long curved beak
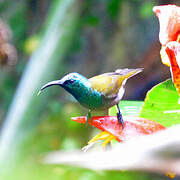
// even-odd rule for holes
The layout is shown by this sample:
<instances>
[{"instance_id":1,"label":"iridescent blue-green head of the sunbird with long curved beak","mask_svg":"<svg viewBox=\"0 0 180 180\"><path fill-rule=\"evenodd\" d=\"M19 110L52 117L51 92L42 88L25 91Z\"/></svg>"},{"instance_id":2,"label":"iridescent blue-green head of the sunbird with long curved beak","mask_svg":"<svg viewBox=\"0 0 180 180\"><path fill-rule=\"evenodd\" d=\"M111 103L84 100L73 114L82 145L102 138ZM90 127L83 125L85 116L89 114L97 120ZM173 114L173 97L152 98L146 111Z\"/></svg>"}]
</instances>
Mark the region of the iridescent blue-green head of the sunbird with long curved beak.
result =
<instances>
[{"instance_id":1,"label":"iridescent blue-green head of the sunbird with long curved beak","mask_svg":"<svg viewBox=\"0 0 180 180\"><path fill-rule=\"evenodd\" d=\"M38 94L40 94L44 89L50 86L58 85L63 87L66 91L74 95L75 97L79 95L83 88L90 87L88 79L79 73L70 73L64 76L60 80L51 81L45 84Z\"/></svg>"}]
</instances>

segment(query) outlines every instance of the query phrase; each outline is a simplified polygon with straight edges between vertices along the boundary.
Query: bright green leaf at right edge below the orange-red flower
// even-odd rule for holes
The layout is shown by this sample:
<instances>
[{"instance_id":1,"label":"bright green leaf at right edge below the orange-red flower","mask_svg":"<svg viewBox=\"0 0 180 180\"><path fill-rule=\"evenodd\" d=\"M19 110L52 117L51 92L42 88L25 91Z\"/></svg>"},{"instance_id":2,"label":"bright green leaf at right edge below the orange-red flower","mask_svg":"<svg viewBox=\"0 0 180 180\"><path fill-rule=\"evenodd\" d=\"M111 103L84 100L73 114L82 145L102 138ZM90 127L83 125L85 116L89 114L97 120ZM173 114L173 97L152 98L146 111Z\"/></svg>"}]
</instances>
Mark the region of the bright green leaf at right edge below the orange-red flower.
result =
<instances>
[{"instance_id":1,"label":"bright green leaf at right edge below the orange-red flower","mask_svg":"<svg viewBox=\"0 0 180 180\"><path fill-rule=\"evenodd\" d=\"M154 120L166 127L180 123L179 95L172 80L153 87L146 95L140 117Z\"/></svg>"}]
</instances>

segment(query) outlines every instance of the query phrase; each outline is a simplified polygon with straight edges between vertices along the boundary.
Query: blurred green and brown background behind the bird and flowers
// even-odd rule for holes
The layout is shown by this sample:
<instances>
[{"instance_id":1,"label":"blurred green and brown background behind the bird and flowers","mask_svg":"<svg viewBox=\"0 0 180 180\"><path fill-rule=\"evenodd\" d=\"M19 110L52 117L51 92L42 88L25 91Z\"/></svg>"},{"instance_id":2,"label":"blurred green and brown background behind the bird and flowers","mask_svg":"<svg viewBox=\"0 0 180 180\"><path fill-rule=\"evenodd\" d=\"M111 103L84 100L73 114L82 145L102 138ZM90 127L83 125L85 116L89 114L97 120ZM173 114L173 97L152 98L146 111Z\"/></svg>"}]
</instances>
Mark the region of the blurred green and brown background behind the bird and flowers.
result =
<instances>
[{"instance_id":1,"label":"blurred green and brown background behind the bird and flowers","mask_svg":"<svg viewBox=\"0 0 180 180\"><path fill-rule=\"evenodd\" d=\"M144 100L170 77L159 57L154 5L177 1L2 0L0 1L1 179L166 179L142 172L94 172L49 166L50 151L80 149L92 127L71 121L86 115L63 89L37 96L44 83L69 72L86 77L118 68L144 67L128 80L126 100Z\"/></svg>"}]
</instances>

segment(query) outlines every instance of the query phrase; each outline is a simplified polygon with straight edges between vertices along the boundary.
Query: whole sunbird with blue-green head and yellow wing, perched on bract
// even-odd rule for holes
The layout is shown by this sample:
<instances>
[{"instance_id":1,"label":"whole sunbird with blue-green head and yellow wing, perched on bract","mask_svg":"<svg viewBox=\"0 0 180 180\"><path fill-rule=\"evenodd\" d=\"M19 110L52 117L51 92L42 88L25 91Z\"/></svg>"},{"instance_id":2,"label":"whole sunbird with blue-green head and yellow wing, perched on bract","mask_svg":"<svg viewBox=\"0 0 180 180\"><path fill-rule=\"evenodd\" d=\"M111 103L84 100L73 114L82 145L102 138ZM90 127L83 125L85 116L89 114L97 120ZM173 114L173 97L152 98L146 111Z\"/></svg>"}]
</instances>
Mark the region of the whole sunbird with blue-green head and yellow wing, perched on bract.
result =
<instances>
[{"instance_id":1,"label":"whole sunbird with blue-green head and yellow wing, perched on bract","mask_svg":"<svg viewBox=\"0 0 180 180\"><path fill-rule=\"evenodd\" d=\"M72 94L82 106L89 109L87 122L91 117L92 110L106 110L117 105L117 118L123 127L123 118L119 108L119 101L124 95L125 83L130 77L140 73L142 70L143 68L117 69L115 72L104 73L90 79L74 72L67 74L60 80L45 84L38 94L50 86L58 85L63 87Z\"/></svg>"}]
</instances>

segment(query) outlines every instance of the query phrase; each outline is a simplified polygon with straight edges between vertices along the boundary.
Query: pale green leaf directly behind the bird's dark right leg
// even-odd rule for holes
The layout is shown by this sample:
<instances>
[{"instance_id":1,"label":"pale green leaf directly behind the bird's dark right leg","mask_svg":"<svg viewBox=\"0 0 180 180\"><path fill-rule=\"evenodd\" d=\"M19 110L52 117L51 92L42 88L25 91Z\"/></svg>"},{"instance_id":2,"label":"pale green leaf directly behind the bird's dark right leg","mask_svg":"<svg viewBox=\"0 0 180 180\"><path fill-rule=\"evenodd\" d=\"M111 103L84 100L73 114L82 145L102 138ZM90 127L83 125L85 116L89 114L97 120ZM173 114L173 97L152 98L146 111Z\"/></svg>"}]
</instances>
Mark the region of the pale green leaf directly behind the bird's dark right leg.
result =
<instances>
[{"instance_id":1,"label":"pale green leaf directly behind the bird's dark right leg","mask_svg":"<svg viewBox=\"0 0 180 180\"><path fill-rule=\"evenodd\" d=\"M120 101L119 107L121 113L125 116L139 116L143 101ZM116 116L116 106L110 108L110 115Z\"/></svg>"}]
</instances>

